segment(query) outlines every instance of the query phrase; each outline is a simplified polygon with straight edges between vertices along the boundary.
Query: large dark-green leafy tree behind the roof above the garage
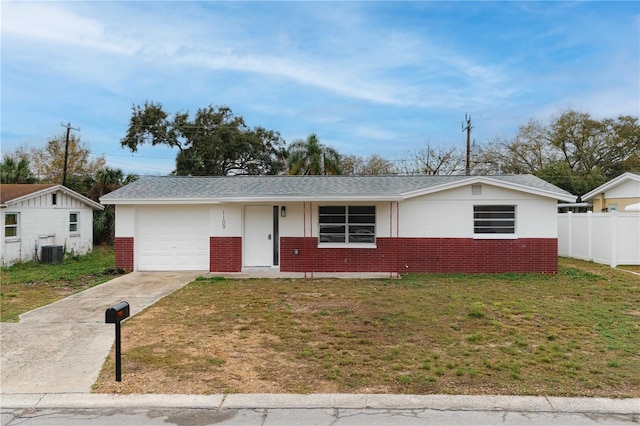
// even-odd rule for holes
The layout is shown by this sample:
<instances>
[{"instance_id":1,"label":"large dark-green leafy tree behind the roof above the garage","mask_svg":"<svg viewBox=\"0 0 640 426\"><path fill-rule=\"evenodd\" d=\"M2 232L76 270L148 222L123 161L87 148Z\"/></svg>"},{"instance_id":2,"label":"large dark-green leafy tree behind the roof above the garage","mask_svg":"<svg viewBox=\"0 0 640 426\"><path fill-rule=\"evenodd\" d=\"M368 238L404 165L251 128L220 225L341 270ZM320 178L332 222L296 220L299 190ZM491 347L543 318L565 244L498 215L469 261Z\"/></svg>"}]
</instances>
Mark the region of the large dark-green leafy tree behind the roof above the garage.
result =
<instances>
[{"instance_id":1,"label":"large dark-green leafy tree behind the roof above the garage","mask_svg":"<svg viewBox=\"0 0 640 426\"><path fill-rule=\"evenodd\" d=\"M126 136L132 152L144 143L177 148L176 175L225 176L278 174L286 150L278 132L250 129L226 106L199 109L171 117L159 103L134 106Z\"/></svg>"}]
</instances>

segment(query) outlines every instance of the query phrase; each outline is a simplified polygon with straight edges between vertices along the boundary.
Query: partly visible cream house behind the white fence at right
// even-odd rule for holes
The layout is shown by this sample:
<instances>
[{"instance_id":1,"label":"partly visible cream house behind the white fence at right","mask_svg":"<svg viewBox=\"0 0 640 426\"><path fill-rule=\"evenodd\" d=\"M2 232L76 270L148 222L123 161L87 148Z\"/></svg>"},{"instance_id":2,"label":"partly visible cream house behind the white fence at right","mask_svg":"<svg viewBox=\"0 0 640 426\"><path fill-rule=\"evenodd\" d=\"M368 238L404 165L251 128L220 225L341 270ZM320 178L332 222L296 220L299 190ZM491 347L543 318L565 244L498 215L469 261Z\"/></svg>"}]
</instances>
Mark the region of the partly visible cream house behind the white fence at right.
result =
<instances>
[{"instance_id":1,"label":"partly visible cream house behind the white fence at right","mask_svg":"<svg viewBox=\"0 0 640 426\"><path fill-rule=\"evenodd\" d=\"M594 212L638 211L633 206L640 203L640 173L623 173L584 194L582 201L591 202Z\"/></svg>"}]
</instances>

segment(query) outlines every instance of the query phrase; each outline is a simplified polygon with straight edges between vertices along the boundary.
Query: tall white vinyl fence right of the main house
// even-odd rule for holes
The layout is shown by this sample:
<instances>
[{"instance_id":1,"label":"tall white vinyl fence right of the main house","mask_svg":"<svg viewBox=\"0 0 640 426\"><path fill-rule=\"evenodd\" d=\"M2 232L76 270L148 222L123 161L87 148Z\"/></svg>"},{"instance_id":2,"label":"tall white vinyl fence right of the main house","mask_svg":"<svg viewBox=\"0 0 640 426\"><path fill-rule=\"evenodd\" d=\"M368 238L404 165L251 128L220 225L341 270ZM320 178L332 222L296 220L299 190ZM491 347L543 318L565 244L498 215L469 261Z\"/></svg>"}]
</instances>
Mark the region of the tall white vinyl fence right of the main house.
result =
<instances>
[{"instance_id":1,"label":"tall white vinyl fence right of the main house","mask_svg":"<svg viewBox=\"0 0 640 426\"><path fill-rule=\"evenodd\" d=\"M558 254L613 267L640 265L640 213L559 213Z\"/></svg>"}]
</instances>

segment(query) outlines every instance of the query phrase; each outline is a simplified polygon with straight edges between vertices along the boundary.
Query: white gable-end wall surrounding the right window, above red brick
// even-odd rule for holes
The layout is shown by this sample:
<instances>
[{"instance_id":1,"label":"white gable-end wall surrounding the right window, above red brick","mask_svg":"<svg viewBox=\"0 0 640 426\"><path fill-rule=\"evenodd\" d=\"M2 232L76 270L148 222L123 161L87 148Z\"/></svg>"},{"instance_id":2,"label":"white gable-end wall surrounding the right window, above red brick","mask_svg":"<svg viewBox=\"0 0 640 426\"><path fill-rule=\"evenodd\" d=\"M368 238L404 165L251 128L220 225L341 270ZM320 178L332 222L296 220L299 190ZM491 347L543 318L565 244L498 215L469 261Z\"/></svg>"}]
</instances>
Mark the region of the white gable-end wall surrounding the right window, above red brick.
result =
<instances>
[{"instance_id":1,"label":"white gable-end wall surrounding the right window, above red brick","mask_svg":"<svg viewBox=\"0 0 640 426\"><path fill-rule=\"evenodd\" d=\"M473 206L482 204L515 205L517 238L558 236L556 200L489 185L480 195L469 185L401 202L399 236L473 238Z\"/></svg>"}]
</instances>

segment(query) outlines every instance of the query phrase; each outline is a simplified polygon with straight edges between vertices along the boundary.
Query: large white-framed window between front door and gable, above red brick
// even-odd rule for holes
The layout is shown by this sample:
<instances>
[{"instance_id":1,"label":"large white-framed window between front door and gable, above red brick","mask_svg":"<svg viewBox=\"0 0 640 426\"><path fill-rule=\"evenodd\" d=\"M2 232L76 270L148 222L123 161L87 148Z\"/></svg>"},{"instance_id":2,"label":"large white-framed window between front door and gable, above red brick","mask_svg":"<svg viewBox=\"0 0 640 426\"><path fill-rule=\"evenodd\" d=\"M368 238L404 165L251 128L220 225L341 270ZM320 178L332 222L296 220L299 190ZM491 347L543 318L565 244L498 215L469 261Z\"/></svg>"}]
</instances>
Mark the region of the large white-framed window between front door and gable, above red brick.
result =
<instances>
[{"instance_id":1,"label":"large white-framed window between front door and gable, above red brick","mask_svg":"<svg viewBox=\"0 0 640 426\"><path fill-rule=\"evenodd\" d=\"M319 242L375 243L375 206L320 206Z\"/></svg>"}]
</instances>

